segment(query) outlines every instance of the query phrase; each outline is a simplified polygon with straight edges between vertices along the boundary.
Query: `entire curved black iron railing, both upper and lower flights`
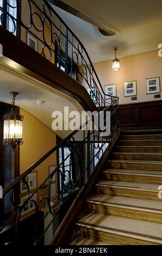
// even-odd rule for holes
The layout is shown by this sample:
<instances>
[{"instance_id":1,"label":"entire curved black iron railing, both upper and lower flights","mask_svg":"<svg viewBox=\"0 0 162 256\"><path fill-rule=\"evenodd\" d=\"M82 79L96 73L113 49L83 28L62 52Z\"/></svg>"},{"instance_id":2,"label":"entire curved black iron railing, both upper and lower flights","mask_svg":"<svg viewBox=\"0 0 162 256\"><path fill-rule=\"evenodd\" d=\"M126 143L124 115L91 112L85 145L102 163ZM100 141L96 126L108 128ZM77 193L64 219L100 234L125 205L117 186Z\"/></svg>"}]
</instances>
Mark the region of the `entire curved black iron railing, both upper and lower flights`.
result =
<instances>
[{"instance_id":1,"label":"entire curved black iron railing, both upper and lower flights","mask_svg":"<svg viewBox=\"0 0 162 256\"><path fill-rule=\"evenodd\" d=\"M11 5L10 2L14 3L14 5ZM0 5L0 25L15 35L18 29L21 29L21 40L24 40L24 32L25 34L27 33L27 43L31 47L38 47L39 53L44 58L58 65L58 68L64 68L65 72L91 90L92 100L97 102L97 106L100 109L104 108L103 123L107 121L107 111L110 112L111 119L111 129L108 136L101 137L101 131L96 130L94 124L91 131L87 129L73 131L71 135L48 151L26 172L4 188L2 203L4 204L5 200L10 198L11 205L13 205L13 213L1 225L0 236L3 235L7 228L11 228L14 236L6 239L5 243L17 244L20 241L20 226L24 212L32 206L36 216L35 227L33 226L33 233L35 234L33 244L37 245L41 243L43 236L56 220L65 204L66 211L68 210L68 200L74 200L82 193L86 183L91 178L91 174L102 159L104 151L113 142L119 125L119 98L109 96L103 92L102 85L82 42L67 27L59 15L55 13L47 1L40 0L37 3L33 0L21 1L23 7L26 4L27 15L24 16L21 15L19 2L18 0L3 0L3 5ZM89 123L86 123L85 128L88 125ZM26 177L61 147L68 149L68 155L62 159L57 168L34 191L31 191ZM70 166L68 169L66 168L67 162L68 166ZM71 176L71 173L74 175ZM67 177L68 179L66 179ZM59 180L59 189L55 194L53 194L52 190L53 178ZM68 182L65 182L65 180L68 180ZM23 192L26 195L23 200L20 200L22 186L25 188ZM39 197L39 199L36 198L38 194L41 194L42 190L47 191L46 195ZM65 191L68 192L66 195ZM52 215L52 220L49 221L41 234L38 233L40 212L44 212L44 216L41 217L43 219L46 219L48 214Z\"/></svg>"}]
</instances>

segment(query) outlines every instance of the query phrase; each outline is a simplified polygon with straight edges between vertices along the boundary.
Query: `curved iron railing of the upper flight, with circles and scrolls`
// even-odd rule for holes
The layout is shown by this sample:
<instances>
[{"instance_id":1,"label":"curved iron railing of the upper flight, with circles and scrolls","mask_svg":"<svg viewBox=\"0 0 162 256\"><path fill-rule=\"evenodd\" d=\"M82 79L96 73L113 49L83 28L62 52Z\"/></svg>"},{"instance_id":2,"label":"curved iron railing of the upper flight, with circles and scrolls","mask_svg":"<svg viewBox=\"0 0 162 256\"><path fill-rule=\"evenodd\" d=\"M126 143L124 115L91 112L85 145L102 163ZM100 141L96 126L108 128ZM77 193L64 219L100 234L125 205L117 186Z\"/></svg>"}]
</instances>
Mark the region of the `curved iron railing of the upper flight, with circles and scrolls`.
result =
<instances>
[{"instance_id":1,"label":"curved iron railing of the upper flight, with circles and scrolls","mask_svg":"<svg viewBox=\"0 0 162 256\"><path fill-rule=\"evenodd\" d=\"M91 59L77 38L51 5L45 1L23 0L21 15L18 0L3 0L0 6L1 23L11 33L17 34L28 45L71 77L89 88L91 99L99 108L113 102L116 97L104 93ZM12 2L12 4L10 3ZM27 33L26 36L24 36ZM34 36L33 38L28 34Z\"/></svg>"}]
</instances>

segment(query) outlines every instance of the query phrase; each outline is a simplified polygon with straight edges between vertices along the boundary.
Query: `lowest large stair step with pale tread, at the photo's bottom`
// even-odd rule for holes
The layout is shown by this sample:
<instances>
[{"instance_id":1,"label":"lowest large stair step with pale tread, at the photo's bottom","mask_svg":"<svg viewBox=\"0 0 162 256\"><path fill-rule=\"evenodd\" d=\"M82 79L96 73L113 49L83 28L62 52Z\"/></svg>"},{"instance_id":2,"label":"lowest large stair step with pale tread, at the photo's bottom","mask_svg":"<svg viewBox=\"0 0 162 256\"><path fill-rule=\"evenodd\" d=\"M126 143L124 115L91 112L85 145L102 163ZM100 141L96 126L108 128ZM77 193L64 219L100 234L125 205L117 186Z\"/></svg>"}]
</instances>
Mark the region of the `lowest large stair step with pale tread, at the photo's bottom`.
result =
<instances>
[{"instance_id":1,"label":"lowest large stair step with pale tread, at the photo's bottom","mask_svg":"<svg viewBox=\"0 0 162 256\"><path fill-rule=\"evenodd\" d=\"M89 239L123 245L162 245L162 224L105 214L88 214L76 223Z\"/></svg>"}]
</instances>

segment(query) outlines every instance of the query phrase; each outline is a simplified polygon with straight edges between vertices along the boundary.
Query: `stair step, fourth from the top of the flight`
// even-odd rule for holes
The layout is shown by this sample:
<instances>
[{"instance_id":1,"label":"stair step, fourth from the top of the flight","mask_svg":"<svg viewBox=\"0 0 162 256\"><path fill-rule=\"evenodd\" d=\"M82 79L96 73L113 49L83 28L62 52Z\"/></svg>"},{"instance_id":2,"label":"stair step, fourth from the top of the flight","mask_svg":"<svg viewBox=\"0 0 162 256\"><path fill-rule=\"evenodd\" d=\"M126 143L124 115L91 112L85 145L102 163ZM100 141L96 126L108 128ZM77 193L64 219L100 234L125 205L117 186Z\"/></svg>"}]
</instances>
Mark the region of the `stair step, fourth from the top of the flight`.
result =
<instances>
[{"instance_id":1,"label":"stair step, fourth from the top of the flight","mask_svg":"<svg viewBox=\"0 0 162 256\"><path fill-rule=\"evenodd\" d=\"M113 149L113 152L154 152L162 153L162 147L160 146L116 146Z\"/></svg>"}]
</instances>

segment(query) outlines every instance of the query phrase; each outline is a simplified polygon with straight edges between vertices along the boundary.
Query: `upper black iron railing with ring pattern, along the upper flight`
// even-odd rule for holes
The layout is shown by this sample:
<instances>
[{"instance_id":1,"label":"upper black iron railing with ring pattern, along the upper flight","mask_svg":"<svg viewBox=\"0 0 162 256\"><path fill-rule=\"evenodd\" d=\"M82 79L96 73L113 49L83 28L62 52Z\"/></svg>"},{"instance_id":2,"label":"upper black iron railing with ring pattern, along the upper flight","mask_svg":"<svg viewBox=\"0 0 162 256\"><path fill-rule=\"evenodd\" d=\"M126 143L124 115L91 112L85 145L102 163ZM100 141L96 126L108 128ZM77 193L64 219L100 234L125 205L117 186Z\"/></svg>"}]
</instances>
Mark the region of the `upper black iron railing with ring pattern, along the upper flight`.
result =
<instances>
[{"instance_id":1,"label":"upper black iron railing with ring pattern, along the upper flight","mask_svg":"<svg viewBox=\"0 0 162 256\"><path fill-rule=\"evenodd\" d=\"M7 0L4 0L7 5ZM61 17L56 13L56 11L51 7L51 5L46 0L40 0L38 3L33 0L23 0L22 4L27 3L29 9L29 25L26 24L28 22L23 21L23 17L21 16L20 10L18 9L18 0L16 0L16 4L13 9L17 8L17 16L9 13L9 10L0 7L1 13L1 23L2 26L6 26L6 22L4 22L4 17L10 17L10 22L14 27L11 33L16 33L16 27L21 27L28 31L30 34L35 36L38 40L39 45L42 46L41 54L44 58L51 61L53 63L53 59L55 56L58 56L59 60L59 68L61 68L60 59L65 63L65 71L73 77L73 74L76 76L76 80L80 83L85 83L87 87L91 89L91 97L92 100L97 102L99 108L105 107L107 104L113 102L115 96L109 96L104 93L103 87L99 78L96 74L94 65L91 62L91 59L86 51L82 42L78 39L78 37L72 32L72 30L66 25L66 23L61 19ZM34 7L34 8L33 8ZM10 9L12 6L10 5ZM39 17L39 24L35 22L34 15ZM57 19L57 20L56 20ZM45 32L45 23L48 24L49 34L51 37L51 41L47 42L47 35ZM40 27L38 26L40 25ZM47 25L46 25L47 26ZM8 28L8 27L7 27ZM35 32L33 32L33 28ZM8 28L9 29L9 28ZM64 32L65 30L65 32ZM64 44L65 41L65 54L64 57L61 56L61 45ZM75 41L75 42L74 42ZM56 47L57 46L57 47ZM58 50L57 50L58 48ZM46 56L45 49L49 52L49 56ZM68 49L71 49L71 53L68 52ZM71 63L68 63L68 54L71 54ZM55 56L53 56L55 55ZM57 65L57 63L54 63ZM77 65L77 70L75 66ZM68 70L70 68L70 71ZM106 100L108 97L110 100Z\"/></svg>"}]
</instances>

